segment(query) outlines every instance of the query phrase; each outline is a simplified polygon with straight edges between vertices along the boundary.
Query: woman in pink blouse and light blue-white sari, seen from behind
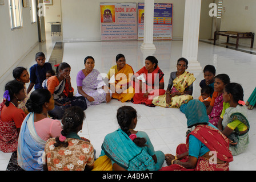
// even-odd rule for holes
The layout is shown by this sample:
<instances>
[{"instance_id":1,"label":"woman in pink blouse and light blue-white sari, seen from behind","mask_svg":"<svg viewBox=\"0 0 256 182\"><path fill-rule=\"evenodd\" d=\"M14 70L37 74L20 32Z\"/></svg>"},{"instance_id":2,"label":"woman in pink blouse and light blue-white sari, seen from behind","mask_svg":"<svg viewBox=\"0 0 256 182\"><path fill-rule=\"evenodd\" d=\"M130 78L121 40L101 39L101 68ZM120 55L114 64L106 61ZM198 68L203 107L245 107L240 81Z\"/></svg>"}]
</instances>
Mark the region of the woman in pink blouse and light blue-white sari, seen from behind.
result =
<instances>
[{"instance_id":1,"label":"woman in pink blouse and light blue-white sari, seen from behind","mask_svg":"<svg viewBox=\"0 0 256 182\"><path fill-rule=\"evenodd\" d=\"M31 93L26 103L29 114L22 122L18 139L18 165L25 171L42 171L42 154L49 138L61 135L61 122L47 117L54 109L53 95L47 89Z\"/></svg>"}]
</instances>

